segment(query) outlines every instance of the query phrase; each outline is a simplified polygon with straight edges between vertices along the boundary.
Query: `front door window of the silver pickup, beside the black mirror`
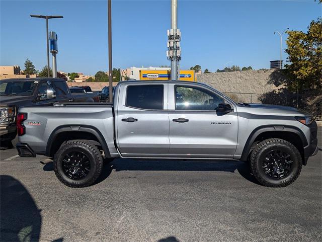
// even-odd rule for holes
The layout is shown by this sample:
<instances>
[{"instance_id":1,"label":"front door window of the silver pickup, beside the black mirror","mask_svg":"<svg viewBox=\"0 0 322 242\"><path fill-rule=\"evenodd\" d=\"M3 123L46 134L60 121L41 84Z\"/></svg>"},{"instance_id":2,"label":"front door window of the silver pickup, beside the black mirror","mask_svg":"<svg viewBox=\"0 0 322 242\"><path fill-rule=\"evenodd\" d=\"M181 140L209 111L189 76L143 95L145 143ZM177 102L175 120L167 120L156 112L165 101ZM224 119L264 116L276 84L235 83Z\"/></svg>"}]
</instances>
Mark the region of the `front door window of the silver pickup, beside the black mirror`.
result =
<instances>
[{"instance_id":1,"label":"front door window of the silver pickup, beside the black mirror","mask_svg":"<svg viewBox=\"0 0 322 242\"><path fill-rule=\"evenodd\" d=\"M224 100L207 90L176 87L176 110L215 110Z\"/></svg>"}]
</instances>

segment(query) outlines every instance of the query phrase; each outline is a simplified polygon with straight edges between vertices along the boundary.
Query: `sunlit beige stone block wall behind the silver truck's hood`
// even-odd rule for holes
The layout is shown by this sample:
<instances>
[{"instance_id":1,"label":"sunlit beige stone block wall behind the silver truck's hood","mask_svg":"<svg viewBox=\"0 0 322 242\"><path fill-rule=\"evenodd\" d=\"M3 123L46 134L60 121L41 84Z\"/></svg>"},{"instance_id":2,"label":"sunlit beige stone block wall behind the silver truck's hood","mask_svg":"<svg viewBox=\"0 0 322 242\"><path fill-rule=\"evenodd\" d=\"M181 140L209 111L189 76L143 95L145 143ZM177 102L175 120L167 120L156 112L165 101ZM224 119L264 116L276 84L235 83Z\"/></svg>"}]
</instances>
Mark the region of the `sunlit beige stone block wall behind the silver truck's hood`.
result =
<instances>
[{"instance_id":1,"label":"sunlit beige stone block wall behind the silver truck's hood","mask_svg":"<svg viewBox=\"0 0 322 242\"><path fill-rule=\"evenodd\" d=\"M238 102L260 103L260 95L276 89L274 84L268 84L276 78L276 71L272 74L273 72L273 69L269 69L202 73L197 75L197 80Z\"/></svg>"}]
</instances>

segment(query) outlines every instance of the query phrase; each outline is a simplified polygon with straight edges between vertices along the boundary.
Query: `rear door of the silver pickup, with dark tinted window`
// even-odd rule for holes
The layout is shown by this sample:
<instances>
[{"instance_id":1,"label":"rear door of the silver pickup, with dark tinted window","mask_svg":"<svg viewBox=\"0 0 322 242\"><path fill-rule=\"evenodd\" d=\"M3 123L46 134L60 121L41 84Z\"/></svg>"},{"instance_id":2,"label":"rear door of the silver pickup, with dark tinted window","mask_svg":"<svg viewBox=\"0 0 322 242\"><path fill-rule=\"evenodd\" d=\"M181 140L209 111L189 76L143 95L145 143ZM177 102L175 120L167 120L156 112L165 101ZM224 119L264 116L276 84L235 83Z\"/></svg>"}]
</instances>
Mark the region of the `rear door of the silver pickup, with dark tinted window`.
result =
<instances>
[{"instance_id":1,"label":"rear door of the silver pickup, with dark tinted window","mask_svg":"<svg viewBox=\"0 0 322 242\"><path fill-rule=\"evenodd\" d=\"M168 154L168 84L121 85L116 110L116 138L127 157Z\"/></svg>"}]
</instances>

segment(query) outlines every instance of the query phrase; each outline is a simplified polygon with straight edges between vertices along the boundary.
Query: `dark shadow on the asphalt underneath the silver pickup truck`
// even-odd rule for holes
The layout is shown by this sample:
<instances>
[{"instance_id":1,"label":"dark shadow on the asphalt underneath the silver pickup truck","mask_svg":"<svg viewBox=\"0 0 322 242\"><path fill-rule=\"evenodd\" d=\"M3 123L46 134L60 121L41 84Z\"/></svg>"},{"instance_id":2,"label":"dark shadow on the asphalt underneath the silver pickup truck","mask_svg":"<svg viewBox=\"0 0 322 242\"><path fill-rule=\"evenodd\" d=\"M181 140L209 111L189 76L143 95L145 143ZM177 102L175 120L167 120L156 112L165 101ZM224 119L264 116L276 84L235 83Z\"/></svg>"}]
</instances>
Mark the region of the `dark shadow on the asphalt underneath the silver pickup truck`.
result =
<instances>
[{"instance_id":1,"label":"dark shadow on the asphalt underneath the silver pickup truck","mask_svg":"<svg viewBox=\"0 0 322 242\"><path fill-rule=\"evenodd\" d=\"M44 171L53 171L53 163L49 162L43 167ZM93 184L98 184L107 179L112 170L119 171L207 171L207 172L231 172L237 171L246 180L259 184L251 175L250 167L244 162L232 161L211 161L211 160L182 160L182 159L162 159L162 160L136 160L117 158L112 162L104 163L103 171L98 180Z\"/></svg>"}]
</instances>

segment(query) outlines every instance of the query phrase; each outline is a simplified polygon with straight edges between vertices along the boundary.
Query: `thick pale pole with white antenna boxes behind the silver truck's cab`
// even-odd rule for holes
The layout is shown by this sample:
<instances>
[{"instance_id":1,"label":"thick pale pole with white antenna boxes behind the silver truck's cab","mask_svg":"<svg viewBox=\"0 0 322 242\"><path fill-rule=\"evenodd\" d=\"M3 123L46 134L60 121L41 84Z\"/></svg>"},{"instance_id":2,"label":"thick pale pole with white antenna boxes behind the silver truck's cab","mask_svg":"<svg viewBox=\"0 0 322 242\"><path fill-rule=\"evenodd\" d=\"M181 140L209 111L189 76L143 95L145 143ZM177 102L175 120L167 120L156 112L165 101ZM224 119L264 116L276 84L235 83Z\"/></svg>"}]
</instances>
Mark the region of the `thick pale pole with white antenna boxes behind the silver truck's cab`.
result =
<instances>
[{"instance_id":1,"label":"thick pale pole with white antenna boxes behind the silver truck's cab","mask_svg":"<svg viewBox=\"0 0 322 242\"><path fill-rule=\"evenodd\" d=\"M171 0L171 29L168 30L167 57L171 60L171 79L178 79L178 63L181 60L180 40L181 32L178 29L178 1ZM180 74L180 73L179 73Z\"/></svg>"}]
</instances>

